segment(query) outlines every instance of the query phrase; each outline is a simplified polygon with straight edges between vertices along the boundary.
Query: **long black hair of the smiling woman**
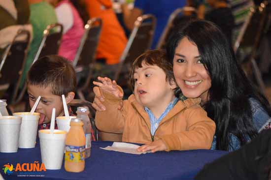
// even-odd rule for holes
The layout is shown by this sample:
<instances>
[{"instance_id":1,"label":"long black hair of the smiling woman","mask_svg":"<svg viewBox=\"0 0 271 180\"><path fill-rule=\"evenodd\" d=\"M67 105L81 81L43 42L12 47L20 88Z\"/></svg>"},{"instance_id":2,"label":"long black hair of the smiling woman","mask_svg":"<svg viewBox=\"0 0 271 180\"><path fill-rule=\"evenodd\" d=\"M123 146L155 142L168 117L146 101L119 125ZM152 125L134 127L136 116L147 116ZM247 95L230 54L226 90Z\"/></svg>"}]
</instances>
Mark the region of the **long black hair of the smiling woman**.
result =
<instances>
[{"instance_id":1,"label":"long black hair of the smiling woman","mask_svg":"<svg viewBox=\"0 0 271 180\"><path fill-rule=\"evenodd\" d=\"M205 20L192 20L176 28L167 44L171 63L175 48L184 37L197 45L211 78L209 99L203 108L216 123L216 149L228 150L231 133L244 145L247 136L252 139L257 135L249 98L257 100L271 115L268 100L247 79L226 36L216 25Z\"/></svg>"}]
</instances>

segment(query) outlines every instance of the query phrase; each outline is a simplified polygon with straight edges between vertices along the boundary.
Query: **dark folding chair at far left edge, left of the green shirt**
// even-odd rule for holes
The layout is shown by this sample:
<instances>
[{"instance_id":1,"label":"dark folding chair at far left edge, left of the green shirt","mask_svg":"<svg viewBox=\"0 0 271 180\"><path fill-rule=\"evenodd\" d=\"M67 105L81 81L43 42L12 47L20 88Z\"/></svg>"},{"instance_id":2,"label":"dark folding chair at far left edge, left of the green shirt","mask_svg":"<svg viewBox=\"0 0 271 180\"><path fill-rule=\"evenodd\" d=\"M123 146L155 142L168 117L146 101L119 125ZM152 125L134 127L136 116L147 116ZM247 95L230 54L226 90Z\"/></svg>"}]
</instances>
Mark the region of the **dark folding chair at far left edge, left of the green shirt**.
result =
<instances>
[{"instance_id":1,"label":"dark folding chair at far left edge, left of the green shirt","mask_svg":"<svg viewBox=\"0 0 271 180\"><path fill-rule=\"evenodd\" d=\"M19 36L25 36L24 40L17 41ZM0 62L0 90L5 91L12 86L8 92L9 104L13 104L18 93L19 83L26 61L26 53L30 44L30 32L18 30L11 44L7 46Z\"/></svg>"}]
</instances>

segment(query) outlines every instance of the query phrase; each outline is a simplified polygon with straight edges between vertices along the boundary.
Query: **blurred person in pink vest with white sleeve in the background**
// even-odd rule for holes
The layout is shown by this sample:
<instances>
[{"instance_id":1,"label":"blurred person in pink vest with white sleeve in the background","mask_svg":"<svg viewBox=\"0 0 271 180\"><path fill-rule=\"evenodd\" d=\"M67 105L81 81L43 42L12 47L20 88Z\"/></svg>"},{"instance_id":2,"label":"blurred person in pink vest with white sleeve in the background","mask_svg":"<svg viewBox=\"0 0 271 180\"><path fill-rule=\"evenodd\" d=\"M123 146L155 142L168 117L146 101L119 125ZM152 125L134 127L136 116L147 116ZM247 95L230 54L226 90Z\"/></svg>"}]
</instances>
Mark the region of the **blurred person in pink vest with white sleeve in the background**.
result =
<instances>
[{"instance_id":1,"label":"blurred person in pink vest with white sleeve in the background","mask_svg":"<svg viewBox=\"0 0 271 180\"><path fill-rule=\"evenodd\" d=\"M58 55L74 60L81 37L84 34L84 23L77 9L69 0L47 0L56 6L57 21L63 25L63 37L59 47Z\"/></svg>"}]
</instances>

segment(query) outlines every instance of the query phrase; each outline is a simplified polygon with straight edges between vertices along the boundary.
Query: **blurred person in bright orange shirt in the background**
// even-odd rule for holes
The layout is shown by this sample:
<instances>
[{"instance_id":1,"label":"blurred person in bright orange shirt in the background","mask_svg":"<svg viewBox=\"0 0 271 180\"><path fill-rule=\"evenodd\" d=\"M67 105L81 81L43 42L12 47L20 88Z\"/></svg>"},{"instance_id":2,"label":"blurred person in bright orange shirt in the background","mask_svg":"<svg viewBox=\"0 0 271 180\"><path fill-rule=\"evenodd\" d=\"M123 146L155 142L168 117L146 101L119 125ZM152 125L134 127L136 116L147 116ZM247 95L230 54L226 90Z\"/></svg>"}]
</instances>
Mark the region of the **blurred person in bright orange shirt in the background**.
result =
<instances>
[{"instance_id":1,"label":"blurred person in bright orange shirt in the background","mask_svg":"<svg viewBox=\"0 0 271 180\"><path fill-rule=\"evenodd\" d=\"M118 63L125 49L127 38L112 9L111 0L85 0L85 4L91 18L100 17L102 19L96 59L103 59L106 64L110 65Z\"/></svg>"}]
</instances>

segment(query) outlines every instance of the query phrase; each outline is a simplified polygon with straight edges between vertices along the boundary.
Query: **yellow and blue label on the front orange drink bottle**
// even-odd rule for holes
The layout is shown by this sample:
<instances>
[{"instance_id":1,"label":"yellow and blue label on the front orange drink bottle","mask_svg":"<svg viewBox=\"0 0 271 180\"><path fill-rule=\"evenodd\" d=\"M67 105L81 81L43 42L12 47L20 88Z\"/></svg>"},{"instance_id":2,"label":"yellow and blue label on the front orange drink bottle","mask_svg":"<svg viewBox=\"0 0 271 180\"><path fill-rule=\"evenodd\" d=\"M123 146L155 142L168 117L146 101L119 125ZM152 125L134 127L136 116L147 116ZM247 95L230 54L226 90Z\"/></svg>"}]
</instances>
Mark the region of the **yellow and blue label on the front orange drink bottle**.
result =
<instances>
[{"instance_id":1,"label":"yellow and blue label on the front orange drink bottle","mask_svg":"<svg viewBox=\"0 0 271 180\"><path fill-rule=\"evenodd\" d=\"M85 146L66 145L65 150L65 161L83 162L85 160Z\"/></svg>"}]
</instances>

